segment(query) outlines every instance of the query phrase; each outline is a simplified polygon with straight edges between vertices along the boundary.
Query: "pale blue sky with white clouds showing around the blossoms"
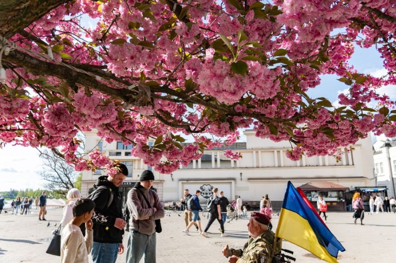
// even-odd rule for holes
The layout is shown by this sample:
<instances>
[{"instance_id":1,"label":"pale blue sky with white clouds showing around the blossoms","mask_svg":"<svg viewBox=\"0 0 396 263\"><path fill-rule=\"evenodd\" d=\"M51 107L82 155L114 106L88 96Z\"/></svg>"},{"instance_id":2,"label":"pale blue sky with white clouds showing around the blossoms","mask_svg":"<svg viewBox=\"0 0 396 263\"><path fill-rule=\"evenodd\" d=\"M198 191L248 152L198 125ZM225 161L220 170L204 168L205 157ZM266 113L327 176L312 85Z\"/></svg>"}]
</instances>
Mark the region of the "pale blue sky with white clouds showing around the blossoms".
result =
<instances>
[{"instance_id":1,"label":"pale blue sky with white clouds showing around the blossoms","mask_svg":"<svg viewBox=\"0 0 396 263\"><path fill-rule=\"evenodd\" d=\"M368 49L356 48L350 59L350 64L354 65L360 73L376 76L385 74L382 60L374 47ZM347 89L347 86L338 81L337 78L339 77L336 75L323 76L319 87L311 89L308 95L314 98L325 97L334 105L339 93ZM383 87L378 93L385 93L396 100L395 86ZM41 164L39 152L34 148L7 145L0 149L0 191L6 191L10 188L17 190L43 188L44 181L37 174L41 170Z\"/></svg>"}]
</instances>

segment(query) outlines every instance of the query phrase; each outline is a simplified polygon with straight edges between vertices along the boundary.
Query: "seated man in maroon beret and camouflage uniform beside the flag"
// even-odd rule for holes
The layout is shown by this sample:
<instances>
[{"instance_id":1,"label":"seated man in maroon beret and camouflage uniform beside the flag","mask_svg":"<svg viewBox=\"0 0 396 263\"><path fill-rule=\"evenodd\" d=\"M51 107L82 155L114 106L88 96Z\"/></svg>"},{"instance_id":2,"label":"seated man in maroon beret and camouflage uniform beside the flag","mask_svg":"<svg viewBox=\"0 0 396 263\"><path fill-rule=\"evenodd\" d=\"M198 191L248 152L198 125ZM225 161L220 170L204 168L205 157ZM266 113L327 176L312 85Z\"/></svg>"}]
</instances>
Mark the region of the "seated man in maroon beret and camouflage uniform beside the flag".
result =
<instances>
[{"instance_id":1,"label":"seated man in maroon beret and camouflage uniform beside the flag","mask_svg":"<svg viewBox=\"0 0 396 263\"><path fill-rule=\"evenodd\" d=\"M223 255L228 258L229 263L271 263L274 254L281 251L282 239L276 244L275 253L272 253L272 246L275 234L268 229L270 220L262 213L253 212L247 224L249 238L244 249L229 249L228 245L223 249Z\"/></svg>"}]
</instances>

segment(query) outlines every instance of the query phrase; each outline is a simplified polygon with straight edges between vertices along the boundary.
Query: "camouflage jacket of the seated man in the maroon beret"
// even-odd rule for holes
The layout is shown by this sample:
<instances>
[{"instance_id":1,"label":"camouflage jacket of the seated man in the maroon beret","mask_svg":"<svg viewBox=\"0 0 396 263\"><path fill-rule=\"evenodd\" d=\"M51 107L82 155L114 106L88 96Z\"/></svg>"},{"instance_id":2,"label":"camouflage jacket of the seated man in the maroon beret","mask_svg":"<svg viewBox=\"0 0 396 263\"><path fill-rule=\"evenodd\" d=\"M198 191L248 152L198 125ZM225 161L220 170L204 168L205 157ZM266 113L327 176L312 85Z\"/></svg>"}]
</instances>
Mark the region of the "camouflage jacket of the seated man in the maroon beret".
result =
<instances>
[{"instance_id":1,"label":"camouflage jacket of the seated man in the maroon beret","mask_svg":"<svg viewBox=\"0 0 396 263\"><path fill-rule=\"evenodd\" d=\"M271 263L272 262L272 245L274 243L275 234L268 230L257 238L253 239L249 236L244 249L230 249L229 256L239 257L237 263ZM282 248L282 239L277 242L275 254L280 252Z\"/></svg>"}]
</instances>

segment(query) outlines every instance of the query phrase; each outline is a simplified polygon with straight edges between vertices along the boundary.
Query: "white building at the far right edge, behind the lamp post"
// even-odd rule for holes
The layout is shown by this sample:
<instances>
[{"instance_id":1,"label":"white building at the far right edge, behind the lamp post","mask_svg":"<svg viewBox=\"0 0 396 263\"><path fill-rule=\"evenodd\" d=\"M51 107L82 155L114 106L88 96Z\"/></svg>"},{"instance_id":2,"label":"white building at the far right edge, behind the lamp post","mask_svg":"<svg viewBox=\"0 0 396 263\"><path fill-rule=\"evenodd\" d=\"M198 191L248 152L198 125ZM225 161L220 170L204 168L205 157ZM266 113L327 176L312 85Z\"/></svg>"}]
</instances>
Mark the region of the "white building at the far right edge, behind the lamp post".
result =
<instances>
[{"instance_id":1,"label":"white building at the far right edge, behind the lamp post","mask_svg":"<svg viewBox=\"0 0 396 263\"><path fill-rule=\"evenodd\" d=\"M388 188L389 197L395 197L396 138L377 136L374 143L376 186Z\"/></svg>"}]
</instances>

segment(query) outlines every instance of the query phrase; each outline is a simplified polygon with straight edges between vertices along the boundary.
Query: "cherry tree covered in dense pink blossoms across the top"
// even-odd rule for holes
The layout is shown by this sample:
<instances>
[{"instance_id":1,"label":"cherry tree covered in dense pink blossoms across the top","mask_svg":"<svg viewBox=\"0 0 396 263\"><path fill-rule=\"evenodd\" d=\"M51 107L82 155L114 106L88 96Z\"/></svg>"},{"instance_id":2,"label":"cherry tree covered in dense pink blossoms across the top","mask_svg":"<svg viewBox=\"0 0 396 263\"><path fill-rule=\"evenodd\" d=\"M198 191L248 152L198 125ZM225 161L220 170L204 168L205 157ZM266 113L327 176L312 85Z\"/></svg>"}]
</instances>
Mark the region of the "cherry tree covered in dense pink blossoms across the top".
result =
<instances>
[{"instance_id":1,"label":"cherry tree covered in dense pink blossoms across the top","mask_svg":"<svg viewBox=\"0 0 396 263\"><path fill-rule=\"evenodd\" d=\"M60 149L80 171L109 164L76 155L96 128L170 173L241 128L290 141L293 160L394 137L395 102L376 89L396 83L395 17L389 0L0 1L0 142ZM387 75L349 65L356 46ZM307 95L321 75L347 85L342 107Z\"/></svg>"}]
</instances>

